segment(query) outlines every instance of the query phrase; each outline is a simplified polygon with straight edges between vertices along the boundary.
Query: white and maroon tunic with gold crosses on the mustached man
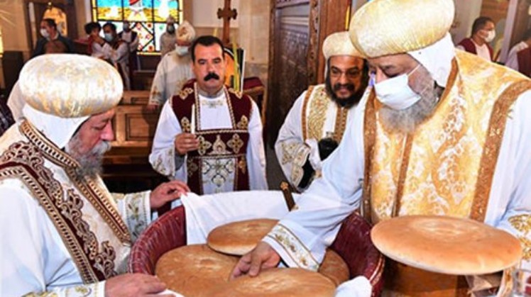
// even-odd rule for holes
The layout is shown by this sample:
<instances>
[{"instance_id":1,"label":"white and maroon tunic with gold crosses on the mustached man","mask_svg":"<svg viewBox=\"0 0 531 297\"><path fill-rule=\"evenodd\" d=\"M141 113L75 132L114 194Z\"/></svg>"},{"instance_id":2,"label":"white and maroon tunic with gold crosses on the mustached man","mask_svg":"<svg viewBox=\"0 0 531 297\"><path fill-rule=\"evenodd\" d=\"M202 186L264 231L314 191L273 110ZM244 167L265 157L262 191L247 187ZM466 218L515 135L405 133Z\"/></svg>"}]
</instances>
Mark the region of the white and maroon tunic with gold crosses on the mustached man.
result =
<instances>
[{"instance_id":1,"label":"white and maroon tunic with gold crosses on the mustached man","mask_svg":"<svg viewBox=\"0 0 531 297\"><path fill-rule=\"evenodd\" d=\"M199 150L180 157L174 140L177 134L190 132L192 103ZM187 84L164 104L149 162L160 174L187 181L197 194L267 189L258 106L226 88L216 98L207 98L197 92L197 84Z\"/></svg>"}]
</instances>

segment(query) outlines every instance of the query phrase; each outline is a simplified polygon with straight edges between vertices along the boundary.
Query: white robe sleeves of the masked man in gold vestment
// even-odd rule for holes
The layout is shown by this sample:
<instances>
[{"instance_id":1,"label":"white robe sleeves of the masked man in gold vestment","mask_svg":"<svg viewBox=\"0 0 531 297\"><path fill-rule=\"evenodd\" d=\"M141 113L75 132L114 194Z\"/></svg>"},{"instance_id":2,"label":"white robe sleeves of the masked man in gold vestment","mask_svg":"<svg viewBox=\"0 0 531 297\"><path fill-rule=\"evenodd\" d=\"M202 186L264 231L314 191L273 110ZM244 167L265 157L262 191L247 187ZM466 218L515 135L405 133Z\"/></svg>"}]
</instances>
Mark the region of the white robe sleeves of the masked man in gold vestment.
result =
<instances>
[{"instance_id":1,"label":"white robe sleeves of the masked man in gold vestment","mask_svg":"<svg viewBox=\"0 0 531 297\"><path fill-rule=\"evenodd\" d=\"M366 98L356 108L354 121L349 123L341 144L324 162L322 178L302 194L297 210L290 212L264 238L290 267L317 269L341 221L360 206L365 169L365 108ZM524 250L522 267L531 269L531 91L522 93L511 110L484 223L518 237ZM287 235L290 238L285 244L290 248L275 240L275 236Z\"/></svg>"}]
</instances>

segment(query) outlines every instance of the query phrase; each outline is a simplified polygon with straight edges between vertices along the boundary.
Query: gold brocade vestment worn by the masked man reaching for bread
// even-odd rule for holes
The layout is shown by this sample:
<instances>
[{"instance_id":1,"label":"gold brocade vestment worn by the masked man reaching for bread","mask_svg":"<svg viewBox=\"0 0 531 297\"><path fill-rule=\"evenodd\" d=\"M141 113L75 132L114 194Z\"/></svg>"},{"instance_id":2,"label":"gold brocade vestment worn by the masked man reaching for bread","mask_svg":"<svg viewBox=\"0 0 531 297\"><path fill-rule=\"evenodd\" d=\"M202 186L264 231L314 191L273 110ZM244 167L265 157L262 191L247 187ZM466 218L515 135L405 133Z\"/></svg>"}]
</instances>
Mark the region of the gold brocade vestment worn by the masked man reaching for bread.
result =
<instances>
[{"instance_id":1,"label":"gold brocade vestment worn by the masked man reaching for bread","mask_svg":"<svg viewBox=\"0 0 531 297\"><path fill-rule=\"evenodd\" d=\"M531 82L464 52L452 63L434 115L412 135L385 131L374 92L368 100L362 211L373 223L395 215L484 220L510 107ZM462 277L386 266L396 296L466 296Z\"/></svg>"}]
</instances>

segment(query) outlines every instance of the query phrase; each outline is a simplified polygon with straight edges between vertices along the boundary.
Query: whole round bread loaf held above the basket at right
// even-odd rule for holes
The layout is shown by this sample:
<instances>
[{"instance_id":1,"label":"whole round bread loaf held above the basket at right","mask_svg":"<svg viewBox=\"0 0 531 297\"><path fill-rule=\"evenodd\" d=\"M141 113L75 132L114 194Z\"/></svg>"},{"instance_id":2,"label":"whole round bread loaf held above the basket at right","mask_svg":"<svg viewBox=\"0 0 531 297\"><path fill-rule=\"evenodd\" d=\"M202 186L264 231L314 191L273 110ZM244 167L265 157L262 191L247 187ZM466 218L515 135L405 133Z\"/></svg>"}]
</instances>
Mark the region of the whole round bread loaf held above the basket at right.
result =
<instances>
[{"instance_id":1,"label":"whole round bread loaf held above the basket at right","mask_svg":"<svg viewBox=\"0 0 531 297\"><path fill-rule=\"evenodd\" d=\"M371 239L397 262L442 274L491 274L512 267L522 254L520 242L508 232L447 216L384 220L374 226Z\"/></svg>"}]
</instances>

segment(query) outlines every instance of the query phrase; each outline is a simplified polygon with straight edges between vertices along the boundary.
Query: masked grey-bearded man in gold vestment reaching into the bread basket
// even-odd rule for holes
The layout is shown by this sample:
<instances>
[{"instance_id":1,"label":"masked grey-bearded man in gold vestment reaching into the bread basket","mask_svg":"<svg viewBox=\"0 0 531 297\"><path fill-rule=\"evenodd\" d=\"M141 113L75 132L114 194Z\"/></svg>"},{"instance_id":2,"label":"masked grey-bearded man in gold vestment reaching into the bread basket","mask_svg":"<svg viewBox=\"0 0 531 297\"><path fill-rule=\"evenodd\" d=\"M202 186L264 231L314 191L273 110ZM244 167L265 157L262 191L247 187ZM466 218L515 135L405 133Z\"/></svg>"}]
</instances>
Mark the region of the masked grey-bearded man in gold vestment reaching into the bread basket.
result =
<instances>
[{"instance_id":1,"label":"masked grey-bearded man in gold vestment reaching into the bread basket","mask_svg":"<svg viewBox=\"0 0 531 297\"><path fill-rule=\"evenodd\" d=\"M373 0L356 11L350 36L373 69L374 91L324 162L322 178L233 276L256 276L280 259L317 269L356 210L372 223L399 215L478 220L531 249L531 80L455 50L448 33L454 9L453 0ZM531 268L528 252L520 265ZM391 296L469 292L461 276L393 261L383 277Z\"/></svg>"}]
</instances>

